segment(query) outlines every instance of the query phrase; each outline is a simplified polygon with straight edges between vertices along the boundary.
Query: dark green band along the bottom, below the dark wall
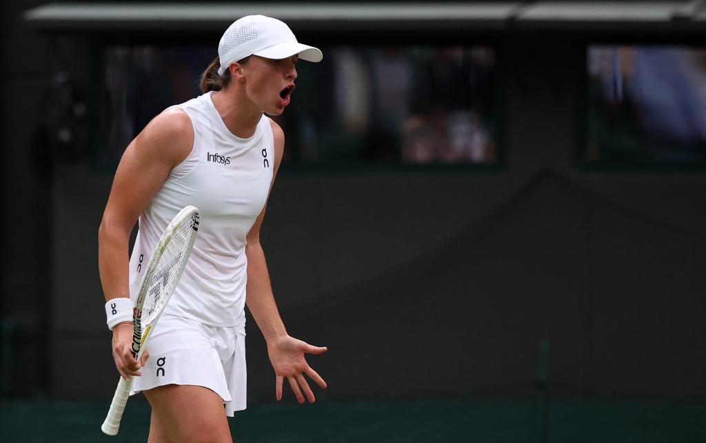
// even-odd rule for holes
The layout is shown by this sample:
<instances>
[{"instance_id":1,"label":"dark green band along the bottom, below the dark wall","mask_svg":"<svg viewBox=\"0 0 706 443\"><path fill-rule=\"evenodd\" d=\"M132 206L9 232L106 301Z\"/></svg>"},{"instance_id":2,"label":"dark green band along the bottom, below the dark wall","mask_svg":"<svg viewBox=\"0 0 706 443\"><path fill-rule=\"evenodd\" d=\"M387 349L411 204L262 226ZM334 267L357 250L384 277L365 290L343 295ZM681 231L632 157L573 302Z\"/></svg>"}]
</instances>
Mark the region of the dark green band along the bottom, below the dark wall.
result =
<instances>
[{"instance_id":1,"label":"dark green band along the bottom, below the dark wall","mask_svg":"<svg viewBox=\"0 0 706 443\"><path fill-rule=\"evenodd\" d=\"M291 399L290 399L291 401ZM0 401L4 443L145 442L150 408L128 401L119 435L100 431L101 402ZM407 403L296 403L250 406L230 419L238 443L542 442L532 400ZM546 418L551 443L706 442L706 403L618 400L553 401Z\"/></svg>"}]
</instances>

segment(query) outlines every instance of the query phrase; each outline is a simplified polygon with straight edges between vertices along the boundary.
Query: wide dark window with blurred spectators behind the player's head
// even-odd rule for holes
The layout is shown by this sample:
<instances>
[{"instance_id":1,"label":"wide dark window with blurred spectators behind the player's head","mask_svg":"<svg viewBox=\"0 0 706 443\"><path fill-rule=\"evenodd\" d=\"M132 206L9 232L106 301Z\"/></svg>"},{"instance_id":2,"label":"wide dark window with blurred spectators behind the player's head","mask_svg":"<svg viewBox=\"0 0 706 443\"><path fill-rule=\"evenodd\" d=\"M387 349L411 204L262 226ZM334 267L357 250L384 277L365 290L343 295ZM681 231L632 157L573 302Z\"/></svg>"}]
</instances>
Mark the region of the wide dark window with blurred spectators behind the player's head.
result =
<instances>
[{"instance_id":1,"label":"wide dark window with blurred spectators behind the player's head","mask_svg":"<svg viewBox=\"0 0 706 443\"><path fill-rule=\"evenodd\" d=\"M297 66L297 92L277 117L287 134L286 160L495 161L490 47L323 50L323 70ZM108 157L117 162L127 142L156 114L196 97L196 80L212 56L200 47L108 49L102 105Z\"/></svg>"}]
</instances>

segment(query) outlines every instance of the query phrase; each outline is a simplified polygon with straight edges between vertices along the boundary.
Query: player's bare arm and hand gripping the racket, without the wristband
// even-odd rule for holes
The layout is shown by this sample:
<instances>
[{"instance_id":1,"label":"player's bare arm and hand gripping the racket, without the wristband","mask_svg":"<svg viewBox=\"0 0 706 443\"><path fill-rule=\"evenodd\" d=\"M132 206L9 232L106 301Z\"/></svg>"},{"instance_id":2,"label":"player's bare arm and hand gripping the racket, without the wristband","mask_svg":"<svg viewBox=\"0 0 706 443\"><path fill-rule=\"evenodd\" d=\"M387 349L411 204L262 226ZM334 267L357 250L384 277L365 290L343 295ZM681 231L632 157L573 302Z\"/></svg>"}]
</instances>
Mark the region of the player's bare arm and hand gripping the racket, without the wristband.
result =
<instances>
[{"instance_id":1,"label":"player's bare arm and hand gripping the racket, without the wristband","mask_svg":"<svg viewBox=\"0 0 706 443\"><path fill-rule=\"evenodd\" d=\"M169 171L193 146L191 119L181 109L162 112L128 145L115 173L98 230L98 268L105 300L130 298L128 243L140 213L160 189ZM133 358L132 324L113 328L113 359L121 377L140 375ZM148 356L145 353L145 358Z\"/></svg>"}]
</instances>

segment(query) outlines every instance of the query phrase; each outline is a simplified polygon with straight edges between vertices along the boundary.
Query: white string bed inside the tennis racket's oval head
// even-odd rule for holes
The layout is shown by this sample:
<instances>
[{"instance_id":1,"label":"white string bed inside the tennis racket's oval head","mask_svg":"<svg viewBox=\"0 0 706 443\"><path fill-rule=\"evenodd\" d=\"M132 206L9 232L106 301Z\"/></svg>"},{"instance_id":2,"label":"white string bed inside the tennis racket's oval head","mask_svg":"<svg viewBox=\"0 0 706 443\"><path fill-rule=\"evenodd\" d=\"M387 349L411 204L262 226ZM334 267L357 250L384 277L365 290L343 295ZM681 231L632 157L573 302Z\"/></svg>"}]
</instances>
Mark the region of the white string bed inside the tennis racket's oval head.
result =
<instances>
[{"instance_id":1,"label":"white string bed inside the tennis racket's oval head","mask_svg":"<svg viewBox=\"0 0 706 443\"><path fill-rule=\"evenodd\" d=\"M189 244L191 236L195 233L191 225L191 218L181 222L164 248L162 258L152 274L152 281L150 281L150 287L143 305L142 312L145 324L150 324L157 313L160 312L162 304L164 304L167 300L167 295L171 292L171 286L176 284L186 245Z\"/></svg>"}]
</instances>

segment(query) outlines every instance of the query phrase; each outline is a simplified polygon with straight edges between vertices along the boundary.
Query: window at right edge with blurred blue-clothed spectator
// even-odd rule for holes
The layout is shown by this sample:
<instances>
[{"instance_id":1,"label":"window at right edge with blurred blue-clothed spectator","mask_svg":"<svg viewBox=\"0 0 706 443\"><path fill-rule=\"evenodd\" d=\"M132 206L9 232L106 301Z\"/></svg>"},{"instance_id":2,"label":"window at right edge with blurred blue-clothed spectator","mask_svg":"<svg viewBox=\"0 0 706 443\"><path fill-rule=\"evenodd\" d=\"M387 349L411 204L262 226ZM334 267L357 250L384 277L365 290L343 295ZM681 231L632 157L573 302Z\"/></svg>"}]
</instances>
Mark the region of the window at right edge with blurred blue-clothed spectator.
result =
<instances>
[{"instance_id":1,"label":"window at right edge with blurred blue-clothed spectator","mask_svg":"<svg viewBox=\"0 0 706 443\"><path fill-rule=\"evenodd\" d=\"M633 163L704 159L704 50L594 46L589 49L588 69L593 89L590 159Z\"/></svg>"}]
</instances>

